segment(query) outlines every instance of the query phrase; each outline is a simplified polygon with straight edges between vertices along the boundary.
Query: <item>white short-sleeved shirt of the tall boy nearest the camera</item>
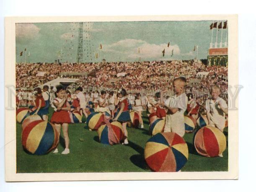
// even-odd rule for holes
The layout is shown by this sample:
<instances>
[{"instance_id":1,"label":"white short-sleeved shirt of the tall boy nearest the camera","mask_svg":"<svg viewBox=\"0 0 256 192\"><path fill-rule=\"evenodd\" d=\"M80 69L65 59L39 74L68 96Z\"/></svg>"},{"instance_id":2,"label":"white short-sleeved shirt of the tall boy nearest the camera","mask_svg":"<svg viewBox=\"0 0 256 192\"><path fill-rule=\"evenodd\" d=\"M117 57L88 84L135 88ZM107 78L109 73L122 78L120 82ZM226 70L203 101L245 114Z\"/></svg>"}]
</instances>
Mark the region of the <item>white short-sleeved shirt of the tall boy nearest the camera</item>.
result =
<instances>
[{"instance_id":1,"label":"white short-sleeved shirt of the tall boy nearest the camera","mask_svg":"<svg viewBox=\"0 0 256 192\"><path fill-rule=\"evenodd\" d=\"M182 93L179 96L176 96L175 94L166 99L164 105L166 107L179 108L181 109L182 113L184 113L187 109L188 97L186 96L186 93Z\"/></svg>"}]
</instances>

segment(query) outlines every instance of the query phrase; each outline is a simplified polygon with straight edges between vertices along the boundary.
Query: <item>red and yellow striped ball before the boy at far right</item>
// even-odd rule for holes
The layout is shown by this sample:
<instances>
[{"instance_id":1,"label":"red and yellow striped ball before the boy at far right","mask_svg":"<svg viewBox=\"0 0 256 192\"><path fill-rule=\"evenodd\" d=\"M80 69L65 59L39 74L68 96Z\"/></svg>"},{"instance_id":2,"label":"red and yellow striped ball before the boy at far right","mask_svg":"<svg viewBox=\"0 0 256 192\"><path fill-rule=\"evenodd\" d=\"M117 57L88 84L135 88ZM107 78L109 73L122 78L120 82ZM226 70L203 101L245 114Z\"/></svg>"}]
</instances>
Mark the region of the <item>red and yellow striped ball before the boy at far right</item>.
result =
<instances>
[{"instance_id":1,"label":"red and yellow striped ball before the boy at far right","mask_svg":"<svg viewBox=\"0 0 256 192\"><path fill-rule=\"evenodd\" d=\"M205 126L197 131L194 146L203 156L217 157L226 149L226 137L219 129Z\"/></svg>"}]
</instances>

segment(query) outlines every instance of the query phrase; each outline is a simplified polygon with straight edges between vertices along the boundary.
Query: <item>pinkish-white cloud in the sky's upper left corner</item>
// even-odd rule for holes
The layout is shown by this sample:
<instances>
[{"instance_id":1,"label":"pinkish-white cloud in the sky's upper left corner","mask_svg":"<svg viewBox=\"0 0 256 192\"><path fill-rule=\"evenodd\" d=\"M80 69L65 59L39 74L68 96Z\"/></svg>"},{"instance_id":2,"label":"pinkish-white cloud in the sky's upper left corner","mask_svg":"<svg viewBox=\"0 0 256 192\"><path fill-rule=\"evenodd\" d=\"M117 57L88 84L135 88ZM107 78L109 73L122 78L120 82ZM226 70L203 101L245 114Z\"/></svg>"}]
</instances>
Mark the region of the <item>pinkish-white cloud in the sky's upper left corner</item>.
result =
<instances>
[{"instance_id":1,"label":"pinkish-white cloud in the sky's upper left corner","mask_svg":"<svg viewBox=\"0 0 256 192\"><path fill-rule=\"evenodd\" d=\"M33 23L16 24L16 38L33 39L39 36L40 28Z\"/></svg>"}]
</instances>

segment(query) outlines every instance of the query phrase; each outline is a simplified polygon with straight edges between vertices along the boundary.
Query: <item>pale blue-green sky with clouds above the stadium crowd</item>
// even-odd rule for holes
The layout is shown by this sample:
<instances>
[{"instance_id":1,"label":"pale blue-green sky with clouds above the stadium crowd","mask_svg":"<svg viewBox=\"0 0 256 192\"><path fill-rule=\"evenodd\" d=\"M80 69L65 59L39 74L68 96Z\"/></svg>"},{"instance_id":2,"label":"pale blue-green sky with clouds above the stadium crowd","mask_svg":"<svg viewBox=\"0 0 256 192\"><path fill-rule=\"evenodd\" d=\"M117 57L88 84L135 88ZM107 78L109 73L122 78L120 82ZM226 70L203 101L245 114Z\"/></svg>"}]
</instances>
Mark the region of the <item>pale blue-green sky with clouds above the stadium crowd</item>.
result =
<instances>
[{"instance_id":1,"label":"pale blue-green sky with clouds above the stadium crowd","mask_svg":"<svg viewBox=\"0 0 256 192\"><path fill-rule=\"evenodd\" d=\"M169 60L207 58L212 21L147 21L83 23L83 62ZM78 47L78 23L19 23L16 24L16 61L75 62ZM216 29L213 31L215 42ZM221 30L218 31L218 42ZM222 42L226 30L223 30ZM167 47L170 42L169 48ZM102 49L100 49L102 44ZM140 53L138 49L140 48ZM165 57L162 51L165 49ZM173 56L171 51L173 50ZM20 52L23 51L23 56ZM98 54L98 58L96 58Z\"/></svg>"}]
</instances>

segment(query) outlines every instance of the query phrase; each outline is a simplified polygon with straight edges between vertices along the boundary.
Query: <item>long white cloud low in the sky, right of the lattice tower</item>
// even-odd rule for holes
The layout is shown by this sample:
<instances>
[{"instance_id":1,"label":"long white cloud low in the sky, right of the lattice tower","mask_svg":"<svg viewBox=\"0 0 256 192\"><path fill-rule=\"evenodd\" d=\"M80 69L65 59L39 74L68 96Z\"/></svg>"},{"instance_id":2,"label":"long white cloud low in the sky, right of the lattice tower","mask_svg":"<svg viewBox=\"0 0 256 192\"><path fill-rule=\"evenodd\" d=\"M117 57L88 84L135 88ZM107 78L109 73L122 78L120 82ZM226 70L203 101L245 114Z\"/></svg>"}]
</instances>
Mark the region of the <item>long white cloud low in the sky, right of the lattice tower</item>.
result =
<instances>
[{"instance_id":1,"label":"long white cloud low in the sky, right of the lattice tower","mask_svg":"<svg viewBox=\"0 0 256 192\"><path fill-rule=\"evenodd\" d=\"M140 53L138 49L140 48ZM165 49L165 58L171 57L171 52L173 50L173 55L180 55L181 50L178 45L170 45L167 47L166 44L150 44L145 40L137 39L124 39L110 45L103 45L103 52L122 54L123 57L130 59L154 59L163 56L163 49Z\"/></svg>"}]
</instances>

